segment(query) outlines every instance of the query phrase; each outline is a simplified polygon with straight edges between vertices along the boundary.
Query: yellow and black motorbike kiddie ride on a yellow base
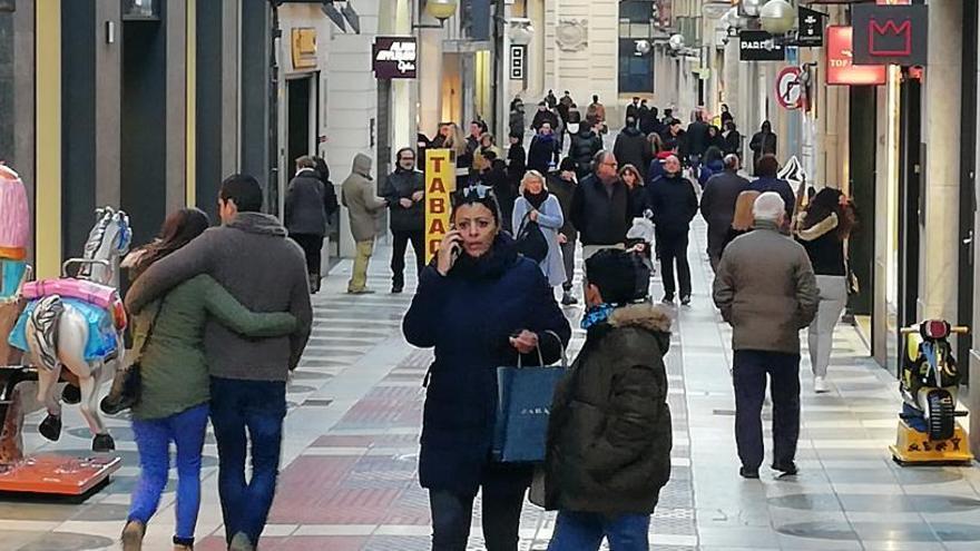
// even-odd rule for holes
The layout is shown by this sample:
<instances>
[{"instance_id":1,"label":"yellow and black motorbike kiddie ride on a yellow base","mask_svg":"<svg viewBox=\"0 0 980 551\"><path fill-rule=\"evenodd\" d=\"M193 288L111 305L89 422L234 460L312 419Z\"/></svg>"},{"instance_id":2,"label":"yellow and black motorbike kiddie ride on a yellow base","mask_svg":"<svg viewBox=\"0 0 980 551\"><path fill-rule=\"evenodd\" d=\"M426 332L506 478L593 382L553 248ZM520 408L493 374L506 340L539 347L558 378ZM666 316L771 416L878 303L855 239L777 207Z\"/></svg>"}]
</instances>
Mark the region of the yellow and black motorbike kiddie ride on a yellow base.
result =
<instances>
[{"instance_id":1,"label":"yellow and black motorbike kiddie ride on a yellow base","mask_svg":"<svg viewBox=\"0 0 980 551\"><path fill-rule=\"evenodd\" d=\"M957 417L957 394L961 375L949 336L967 334L943 319L928 319L905 327L902 354L902 413L892 457L902 465L969 463L967 432Z\"/></svg>"}]
</instances>

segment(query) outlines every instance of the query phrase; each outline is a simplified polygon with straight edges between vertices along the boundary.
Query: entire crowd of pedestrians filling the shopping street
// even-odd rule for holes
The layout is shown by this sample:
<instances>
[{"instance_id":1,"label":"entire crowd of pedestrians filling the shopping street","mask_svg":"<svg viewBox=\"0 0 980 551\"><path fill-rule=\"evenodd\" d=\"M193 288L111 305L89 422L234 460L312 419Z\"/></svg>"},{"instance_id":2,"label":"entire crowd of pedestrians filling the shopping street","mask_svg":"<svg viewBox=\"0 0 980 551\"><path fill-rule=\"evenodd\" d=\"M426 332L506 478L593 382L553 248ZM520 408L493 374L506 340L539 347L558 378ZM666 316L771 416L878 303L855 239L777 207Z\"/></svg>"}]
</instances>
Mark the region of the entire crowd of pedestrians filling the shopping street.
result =
<instances>
[{"instance_id":1,"label":"entire crowd of pedestrians filling the shopping street","mask_svg":"<svg viewBox=\"0 0 980 551\"><path fill-rule=\"evenodd\" d=\"M636 98L606 148L608 121L597 96L581 117L568 92L560 99L549 92L525 150L522 105L511 107L507 152L479 119L465 137L452 122L431 141L420 137L423 148L454 151L458 168L452 225L431 263L416 169L422 152L400 149L380 186L372 159L359 154L341 185L356 249L347 293L372 292L367 263L385 210L392 293L404 291L408 245L414 249L419 285L403 332L409 343L435 352L424 381L419 463L433 549L465 549L478 491L487 549L517 549L536 472L492 457L497 368L556 361L571 334L562 306L580 301L586 344L555 391L539 470L543 503L559 511L549 549L598 549L604 538L612 549L648 549L650 515L670 476L664 356L673 305L690 304L694 294L688 245L698 211L708 225L714 303L733 326L739 472L759 476L768 377L772 466L795 474L798 332L808 327L814 390L827 392L833 328L851 286L846 242L856 217L847 197L832 188L794 190L780 178L767 122L749 144L756 177L747 179L727 108L725 131L700 110L685 130L670 109L661 119ZM193 548L208 417L228 549L255 549L275 492L285 384L310 336L310 295L320 288L320 249L339 201L326 164L305 156L296 159L284 225L261 214L262 189L249 176L228 177L219 197L220 227L208 228L197 209L174 213L159 238L125 264L143 371L133 409L141 475L122 533L127 551L141 549L159 503L169 442L179 479L174 545ZM645 227L653 237L637 239ZM585 270L577 289L579 254ZM649 297L655 262L664 304Z\"/></svg>"}]
</instances>

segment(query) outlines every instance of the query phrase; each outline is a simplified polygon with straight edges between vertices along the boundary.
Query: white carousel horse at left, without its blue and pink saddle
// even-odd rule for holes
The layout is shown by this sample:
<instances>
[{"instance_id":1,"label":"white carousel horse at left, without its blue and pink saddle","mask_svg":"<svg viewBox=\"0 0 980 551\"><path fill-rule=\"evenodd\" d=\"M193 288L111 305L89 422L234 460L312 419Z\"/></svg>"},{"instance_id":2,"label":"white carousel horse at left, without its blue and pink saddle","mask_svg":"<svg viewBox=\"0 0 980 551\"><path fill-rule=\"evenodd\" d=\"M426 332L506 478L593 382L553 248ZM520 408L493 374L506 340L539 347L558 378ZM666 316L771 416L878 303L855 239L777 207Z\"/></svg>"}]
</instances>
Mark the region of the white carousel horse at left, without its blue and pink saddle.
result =
<instances>
[{"instance_id":1,"label":"white carousel horse at left, without its blue and pink saddle","mask_svg":"<svg viewBox=\"0 0 980 551\"><path fill-rule=\"evenodd\" d=\"M129 217L111 207L96 210L96 225L89 233L81 259L68 260L79 264L77 278L92 283L117 286L119 259L129 250L131 230ZM38 368L38 400L45 404L48 416L38 427L48 440L61 435L61 402L55 395L61 368L78 377L81 394L81 414L94 434L92 451L115 450L116 444L99 416L97 395L99 387L112 378L121 365L125 344L122 329L116 331L115 351L92 361L86 360L89 342L89 321L85 314L60 295L40 298L26 325L30 360Z\"/></svg>"}]
</instances>

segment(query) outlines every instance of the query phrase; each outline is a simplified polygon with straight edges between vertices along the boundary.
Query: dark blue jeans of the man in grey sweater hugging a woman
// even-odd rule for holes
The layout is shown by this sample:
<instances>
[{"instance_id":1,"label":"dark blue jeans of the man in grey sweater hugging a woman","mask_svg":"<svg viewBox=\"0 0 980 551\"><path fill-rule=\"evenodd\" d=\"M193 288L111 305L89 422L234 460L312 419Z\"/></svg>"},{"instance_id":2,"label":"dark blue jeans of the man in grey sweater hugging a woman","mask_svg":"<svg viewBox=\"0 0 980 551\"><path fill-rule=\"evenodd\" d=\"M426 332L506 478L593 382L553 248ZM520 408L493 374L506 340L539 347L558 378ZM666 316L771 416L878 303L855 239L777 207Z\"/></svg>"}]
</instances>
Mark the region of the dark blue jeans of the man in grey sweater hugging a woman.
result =
<instances>
[{"instance_id":1,"label":"dark blue jeans of the man in grey sweater hugging a woman","mask_svg":"<svg viewBox=\"0 0 980 551\"><path fill-rule=\"evenodd\" d=\"M257 543L275 495L286 416L286 383L212 377L210 395L225 537L231 542L236 533L245 532ZM252 480L246 482L249 439Z\"/></svg>"}]
</instances>

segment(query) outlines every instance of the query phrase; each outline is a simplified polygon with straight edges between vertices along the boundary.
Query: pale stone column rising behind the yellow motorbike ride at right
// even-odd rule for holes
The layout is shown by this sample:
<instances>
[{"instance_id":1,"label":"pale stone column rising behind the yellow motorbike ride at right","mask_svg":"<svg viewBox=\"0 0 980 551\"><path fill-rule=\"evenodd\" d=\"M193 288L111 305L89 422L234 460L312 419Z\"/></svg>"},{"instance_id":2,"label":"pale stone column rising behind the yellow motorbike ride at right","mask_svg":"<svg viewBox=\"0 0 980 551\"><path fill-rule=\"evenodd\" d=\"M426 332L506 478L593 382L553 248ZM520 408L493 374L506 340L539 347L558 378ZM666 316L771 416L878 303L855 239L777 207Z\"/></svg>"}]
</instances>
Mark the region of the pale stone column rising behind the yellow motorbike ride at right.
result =
<instances>
[{"instance_id":1,"label":"pale stone column rising behind the yellow motorbike ride at right","mask_svg":"<svg viewBox=\"0 0 980 551\"><path fill-rule=\"evenodd\" d=\"M919 317L957 321L959 265L962 2L930 2L925 121L925 229L921 234ZM914 228L913 228L914 229Z\"/></svg>"}]
</instances>

